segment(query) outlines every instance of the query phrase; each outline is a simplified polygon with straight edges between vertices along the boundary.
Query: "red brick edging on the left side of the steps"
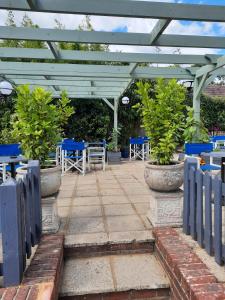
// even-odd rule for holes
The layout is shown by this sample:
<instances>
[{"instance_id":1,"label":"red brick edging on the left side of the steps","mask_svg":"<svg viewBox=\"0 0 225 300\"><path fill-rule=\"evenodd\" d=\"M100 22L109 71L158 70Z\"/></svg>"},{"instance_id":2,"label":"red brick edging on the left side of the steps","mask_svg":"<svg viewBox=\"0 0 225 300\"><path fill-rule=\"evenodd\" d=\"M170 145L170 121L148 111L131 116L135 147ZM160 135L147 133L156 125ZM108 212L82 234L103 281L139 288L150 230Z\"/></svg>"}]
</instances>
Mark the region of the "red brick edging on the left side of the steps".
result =
<instances>
[{"instance_id":1,"label":"red brick edging on the left side of the steps","mask_svg":"<svg viewBox=\"0 0 225 300\"><path fill-rule=\"evenodd\" d=\"M2 300L56 300L63 267L64 236L44 235L20 286L0 289Z\"/></svg>"}]
</instances>

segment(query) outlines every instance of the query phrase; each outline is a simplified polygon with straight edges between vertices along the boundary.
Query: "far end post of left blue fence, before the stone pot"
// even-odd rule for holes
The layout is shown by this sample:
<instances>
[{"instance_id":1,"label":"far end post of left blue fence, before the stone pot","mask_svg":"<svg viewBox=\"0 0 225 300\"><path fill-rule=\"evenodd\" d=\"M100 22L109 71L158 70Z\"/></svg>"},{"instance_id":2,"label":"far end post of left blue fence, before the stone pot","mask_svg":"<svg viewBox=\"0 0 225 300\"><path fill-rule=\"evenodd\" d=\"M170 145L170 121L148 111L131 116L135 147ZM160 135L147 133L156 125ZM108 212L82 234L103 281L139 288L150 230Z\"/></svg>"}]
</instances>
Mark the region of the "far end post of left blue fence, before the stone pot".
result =
<instances>
[{"instance_id":1,"label":"far end post of left blue fence, before the stone pot","mask_svg":"<svg viewBox=\"0 0 225 300\"><path fill-rule=\"evenodd\" d=\"M42 233L41 180L40 163L38 160L29 161L28 172L32 174L33 178L35 243L37 244L40 241Z\"/></svg>"}]
</instances>

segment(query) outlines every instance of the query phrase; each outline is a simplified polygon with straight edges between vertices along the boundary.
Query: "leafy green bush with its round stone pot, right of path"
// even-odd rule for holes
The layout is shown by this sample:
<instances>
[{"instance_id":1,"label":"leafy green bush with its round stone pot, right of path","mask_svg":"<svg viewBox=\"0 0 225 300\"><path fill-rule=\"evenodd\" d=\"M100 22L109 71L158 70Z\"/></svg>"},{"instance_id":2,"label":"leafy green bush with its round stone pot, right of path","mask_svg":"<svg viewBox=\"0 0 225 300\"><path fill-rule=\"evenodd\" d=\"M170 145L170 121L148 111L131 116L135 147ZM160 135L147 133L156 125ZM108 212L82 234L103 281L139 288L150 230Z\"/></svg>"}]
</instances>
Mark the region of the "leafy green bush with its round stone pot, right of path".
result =
<instances>
[{"instance_id":1,"label":"leafy green bush with its round stone pot, right of path","mask_svg":"<svg viewBox=\"0 0 225 300\"><path fill-rule=\"evenodd\" d=\"M156 191L177 190L183 183L184 163L173 157L183 135L185 88L175 79L158 79L154 91L149 82L140 81L136 92L141 99L136 107L145 132L151 137L153 160L146 165L145 181Z\"/></svg>"}]
</instances>

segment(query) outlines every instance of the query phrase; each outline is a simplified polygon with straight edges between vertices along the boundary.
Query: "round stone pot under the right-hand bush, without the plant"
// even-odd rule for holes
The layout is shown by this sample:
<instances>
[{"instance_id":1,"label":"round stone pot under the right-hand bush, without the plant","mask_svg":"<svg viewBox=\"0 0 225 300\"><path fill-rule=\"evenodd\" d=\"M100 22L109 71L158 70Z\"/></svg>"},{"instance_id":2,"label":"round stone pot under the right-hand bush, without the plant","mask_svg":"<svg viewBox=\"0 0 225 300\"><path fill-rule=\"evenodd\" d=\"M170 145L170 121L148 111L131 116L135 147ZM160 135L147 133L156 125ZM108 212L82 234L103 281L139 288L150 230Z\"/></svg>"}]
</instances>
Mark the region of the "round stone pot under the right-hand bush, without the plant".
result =
<instances>
[{"instance_id":1,"label":"round stone pot under the right-hand bush, without the plant","mask_svg":"<svg viewBox=\"0 0 225 300\"><path fill-rule=\"evenodd\" d=\"M144 177L152 190L176 191L183 184L184 162L174 162L174 164L163 166L149 162L145 167Z\"/></svg>"}]
</instances>

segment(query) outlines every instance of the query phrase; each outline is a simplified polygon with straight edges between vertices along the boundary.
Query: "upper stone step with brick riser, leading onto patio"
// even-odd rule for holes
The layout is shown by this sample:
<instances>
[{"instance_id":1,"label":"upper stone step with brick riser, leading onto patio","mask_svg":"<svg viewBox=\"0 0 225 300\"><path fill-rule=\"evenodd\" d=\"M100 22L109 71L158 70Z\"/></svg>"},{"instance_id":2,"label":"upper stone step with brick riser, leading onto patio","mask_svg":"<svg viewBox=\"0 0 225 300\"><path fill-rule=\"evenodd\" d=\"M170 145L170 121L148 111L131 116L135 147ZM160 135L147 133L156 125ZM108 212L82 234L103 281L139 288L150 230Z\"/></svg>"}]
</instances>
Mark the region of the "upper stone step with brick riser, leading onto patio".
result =
<instances>
[{"instance_id":1,"label":"upper stone step with brick riser, leading onto patio","mask_svg":"<svg viewBox=\"0 0 225 300\"><path fill-rule=\"evenodd\" d=\"M150 230L66 235L65 257L152 253L154 238Z\"/></svg>"}]
</instances>

